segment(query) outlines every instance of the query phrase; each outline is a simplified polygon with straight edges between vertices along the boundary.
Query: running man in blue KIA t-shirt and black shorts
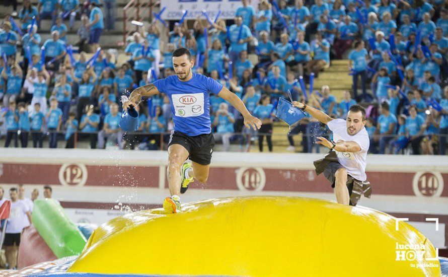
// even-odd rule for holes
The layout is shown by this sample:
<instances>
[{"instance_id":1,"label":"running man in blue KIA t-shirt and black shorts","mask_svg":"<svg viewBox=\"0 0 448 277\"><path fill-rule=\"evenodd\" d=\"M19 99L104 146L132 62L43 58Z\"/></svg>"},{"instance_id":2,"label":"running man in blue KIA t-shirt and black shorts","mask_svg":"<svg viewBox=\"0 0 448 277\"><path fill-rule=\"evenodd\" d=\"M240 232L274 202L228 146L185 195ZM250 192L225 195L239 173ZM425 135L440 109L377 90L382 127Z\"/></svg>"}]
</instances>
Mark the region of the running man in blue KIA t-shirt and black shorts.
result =
<instances>
[{"instance_id":1,"label":"running man in blue KIA t-shirt and black shorts","mask_svg":"<svg viewBox=\"0 0 448 277\"><path fill-rule=\"evenodd\" d=\"M153 84L135 89L123 109L136 107L143 96L165 93L170 100L174 130L168 146L168 185L171 197L164 200L167 213L177 213L180 193L188 189L193 178L206 182L213 152L214 139L211 133L210 94L217 94L234 106L244 117L244 124L254 129L261 127L261 121L252 116L238 96L227 88L200 74L192 73L194 61L186 48L173 52L173 67L176 76L159 79ZM188 158L193 165L185 162Z\"/></svg>"}]
</instances>

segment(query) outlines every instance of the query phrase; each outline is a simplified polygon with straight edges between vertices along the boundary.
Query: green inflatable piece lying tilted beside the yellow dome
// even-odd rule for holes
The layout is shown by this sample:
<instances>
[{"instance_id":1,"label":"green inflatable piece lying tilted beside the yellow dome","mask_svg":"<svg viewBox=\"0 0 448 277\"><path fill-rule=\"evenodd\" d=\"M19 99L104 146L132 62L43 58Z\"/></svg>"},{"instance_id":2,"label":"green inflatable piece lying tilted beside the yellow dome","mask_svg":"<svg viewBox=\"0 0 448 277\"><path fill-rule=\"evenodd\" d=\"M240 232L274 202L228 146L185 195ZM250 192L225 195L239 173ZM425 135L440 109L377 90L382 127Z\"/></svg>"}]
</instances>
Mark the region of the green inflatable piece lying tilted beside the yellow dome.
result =
<instances>
[{"instance_id":1,"label":"green inflatable piece lying tilted beside the yellow dome","mask_svg":"<svg viewBox=\"0 0 448 277\"><path fill-rule=\"evenodd\" d=\"M54 199L35 200L32 221L57 258L79 255L83 251L86 238Z\"/></svg>"}]
</instances>

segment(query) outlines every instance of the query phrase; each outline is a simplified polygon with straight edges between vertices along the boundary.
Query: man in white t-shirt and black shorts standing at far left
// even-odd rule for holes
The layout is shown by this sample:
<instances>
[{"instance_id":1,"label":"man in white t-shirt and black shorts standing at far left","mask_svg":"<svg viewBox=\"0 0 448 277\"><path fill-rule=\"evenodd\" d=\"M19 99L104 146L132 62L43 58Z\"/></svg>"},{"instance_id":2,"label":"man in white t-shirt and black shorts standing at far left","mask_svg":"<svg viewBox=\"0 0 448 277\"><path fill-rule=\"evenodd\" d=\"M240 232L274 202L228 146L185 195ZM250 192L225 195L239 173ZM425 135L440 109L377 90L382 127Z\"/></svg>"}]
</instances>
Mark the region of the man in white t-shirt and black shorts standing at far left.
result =
<instances>
[{"instance_id":1,"label":"man in white t-shirt and black shorts standing at far left","mask_svg":"<svg viewBox=\"0 0 448 277\"><path fill-rule=\"evenodd\" d=\"M30 209L24 201L18 198L17 188L10 189L11 212L5 230L6 261L8 269L17 265L17 254L20 245L20 235L25 228L27 220L31 222Z\"/></svg>"}]
</instances>

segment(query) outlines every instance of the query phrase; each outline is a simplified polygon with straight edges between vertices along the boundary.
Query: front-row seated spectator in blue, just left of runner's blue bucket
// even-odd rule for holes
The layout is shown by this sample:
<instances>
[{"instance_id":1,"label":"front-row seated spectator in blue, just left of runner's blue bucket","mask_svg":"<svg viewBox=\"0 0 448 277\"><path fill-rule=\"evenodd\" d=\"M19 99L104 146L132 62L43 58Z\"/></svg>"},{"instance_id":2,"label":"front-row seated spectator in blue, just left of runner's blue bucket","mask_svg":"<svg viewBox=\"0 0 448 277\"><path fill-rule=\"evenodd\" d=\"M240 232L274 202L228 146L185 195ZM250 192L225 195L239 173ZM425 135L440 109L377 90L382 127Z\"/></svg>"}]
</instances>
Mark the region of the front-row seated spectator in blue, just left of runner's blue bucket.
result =
<instances>
[{"instance_id":1,"label":"front-row seated spectator in blue, just left of runner's blue bucket","mask_svg":"<svg viewBox=\"0 0 448 277\"><path fill-rule=\"evenodd\" d=\"M112 103L110 105L110 113L104 117L103 129L98 133L98 148L104 149L105 141L118 144L118 147L122 149L123 132L119 128L121 119L121 113L118 113L118 105Z\"/></svg>"}]
</instances>

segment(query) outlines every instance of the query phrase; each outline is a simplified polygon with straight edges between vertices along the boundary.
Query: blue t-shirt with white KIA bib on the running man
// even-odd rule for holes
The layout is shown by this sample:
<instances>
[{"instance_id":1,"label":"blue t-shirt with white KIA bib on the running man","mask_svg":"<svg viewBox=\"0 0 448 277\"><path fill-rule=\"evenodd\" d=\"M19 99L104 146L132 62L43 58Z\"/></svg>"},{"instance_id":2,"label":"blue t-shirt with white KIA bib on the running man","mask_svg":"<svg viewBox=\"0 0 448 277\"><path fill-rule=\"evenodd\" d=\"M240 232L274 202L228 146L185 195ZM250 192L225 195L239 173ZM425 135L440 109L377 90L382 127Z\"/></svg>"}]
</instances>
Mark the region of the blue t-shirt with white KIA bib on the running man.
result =
<instances>
[{"instance_id":1,"label":"blue t-shirt with white KIA bib on the running man","mask_svg":"<svg viewBox=\"0 0 448 277\"><path fill-rule=\"evenodd\" d=\"M170 99L174 129L190 136L211 132L210 93L218 94L222 85L212 78L193 73L191 80L182 82L170 76L153 83Z\"/></svg>"}]
</instances>

